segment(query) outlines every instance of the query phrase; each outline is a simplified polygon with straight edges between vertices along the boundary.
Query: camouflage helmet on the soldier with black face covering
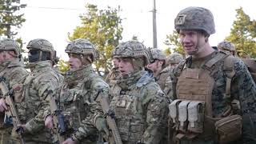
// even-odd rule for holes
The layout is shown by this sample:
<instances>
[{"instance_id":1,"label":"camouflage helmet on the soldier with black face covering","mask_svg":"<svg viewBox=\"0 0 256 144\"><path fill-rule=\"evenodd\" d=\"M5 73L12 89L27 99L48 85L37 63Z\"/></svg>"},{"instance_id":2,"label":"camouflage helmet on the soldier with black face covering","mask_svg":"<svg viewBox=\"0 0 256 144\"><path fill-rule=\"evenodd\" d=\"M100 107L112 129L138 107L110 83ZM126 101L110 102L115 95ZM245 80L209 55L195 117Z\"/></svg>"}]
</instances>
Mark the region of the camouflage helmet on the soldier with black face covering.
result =
<instances>
[{"instance_id":1,"label":"camouflage helmet on the soldier with black face covering","mask_svg":"<svg viewBox=\"0 0 256 144\"><path fill-rule=\"evenodd\" d=\"M35 49L35 50L49 52L51 60L54 60L56 57L56 51L54 50L54 46L46 39L42 39L42 38L33 39L27 44L26 48L29 50Z\"/></svg>"}]
</instances>

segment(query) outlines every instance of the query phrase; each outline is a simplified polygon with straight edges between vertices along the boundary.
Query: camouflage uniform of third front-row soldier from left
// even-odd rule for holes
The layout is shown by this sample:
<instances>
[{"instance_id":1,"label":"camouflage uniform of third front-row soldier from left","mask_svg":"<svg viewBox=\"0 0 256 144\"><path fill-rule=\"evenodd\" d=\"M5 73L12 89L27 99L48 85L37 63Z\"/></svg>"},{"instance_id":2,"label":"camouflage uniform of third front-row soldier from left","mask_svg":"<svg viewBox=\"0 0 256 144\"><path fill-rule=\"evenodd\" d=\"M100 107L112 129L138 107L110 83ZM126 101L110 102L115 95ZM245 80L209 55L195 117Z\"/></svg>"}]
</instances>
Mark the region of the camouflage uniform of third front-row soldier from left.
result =
<instances>
[{"instance_id":1,"label":"camouflage uniform of third front-row soldier from left","mask_svg":"<svg viewBox=\"0 0 256 144\"><path fill-rule=\"evenodd\" d=\"M72 137L78 143L96 143L98 130L94 119L102 116L102 109L95 98L98 91L108 96L109 86L94 73L92 66L83 66L79 70L67 72L65 82L57 91L60 97L62 113L65 117L66 138Z\"/></svg>"}]
</instances>

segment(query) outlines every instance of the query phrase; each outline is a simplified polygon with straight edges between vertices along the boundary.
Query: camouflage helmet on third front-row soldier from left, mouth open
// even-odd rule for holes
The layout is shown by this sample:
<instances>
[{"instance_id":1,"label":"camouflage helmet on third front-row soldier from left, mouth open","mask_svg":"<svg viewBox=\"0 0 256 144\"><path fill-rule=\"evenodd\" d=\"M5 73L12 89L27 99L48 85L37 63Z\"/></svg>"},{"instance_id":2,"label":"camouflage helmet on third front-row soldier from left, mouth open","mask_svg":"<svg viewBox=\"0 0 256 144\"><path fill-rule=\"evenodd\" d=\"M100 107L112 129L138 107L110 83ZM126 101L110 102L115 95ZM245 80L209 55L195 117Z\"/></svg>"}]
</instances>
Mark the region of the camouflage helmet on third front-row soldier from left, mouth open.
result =
<instances>
[{"instance_id":1,"label":"camouflage helmet on third front-row soldier from left, mouth open","mask_svg":"<svg viewBox=\"0 0 256 144\"><path fill-rule=\"evenodd\" d=\"M83 38L78 38L70 42L66 46L65 52L67 54L92 55L93 61L98 58L98 51L95 50L94 45L89 40Z\"/></svg>"}]
</instances>

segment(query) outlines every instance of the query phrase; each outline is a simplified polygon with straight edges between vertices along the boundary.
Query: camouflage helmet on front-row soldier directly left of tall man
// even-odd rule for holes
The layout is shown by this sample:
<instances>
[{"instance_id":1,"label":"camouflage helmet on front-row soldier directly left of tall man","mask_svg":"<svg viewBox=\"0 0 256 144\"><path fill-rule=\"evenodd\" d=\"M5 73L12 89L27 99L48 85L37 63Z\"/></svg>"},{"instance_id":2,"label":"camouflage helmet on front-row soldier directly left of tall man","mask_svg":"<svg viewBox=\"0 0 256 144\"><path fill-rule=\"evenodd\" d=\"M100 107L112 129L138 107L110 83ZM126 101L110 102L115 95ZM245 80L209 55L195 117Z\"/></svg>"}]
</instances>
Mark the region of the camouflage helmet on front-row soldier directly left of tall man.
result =
<instances>
[{"instance_id":1,"label":"camouflage helmet on front-row soldier directly left of tall man","mask_svg":"<svg viewBox=\"0 0 256 144\"><path fill-rule=\"evenodd\" d=\"M149 50L142 42L122 42L114 49L112 54L113 58L144 58L145 64L150 62Z\"/></svg>"}]
</instances>

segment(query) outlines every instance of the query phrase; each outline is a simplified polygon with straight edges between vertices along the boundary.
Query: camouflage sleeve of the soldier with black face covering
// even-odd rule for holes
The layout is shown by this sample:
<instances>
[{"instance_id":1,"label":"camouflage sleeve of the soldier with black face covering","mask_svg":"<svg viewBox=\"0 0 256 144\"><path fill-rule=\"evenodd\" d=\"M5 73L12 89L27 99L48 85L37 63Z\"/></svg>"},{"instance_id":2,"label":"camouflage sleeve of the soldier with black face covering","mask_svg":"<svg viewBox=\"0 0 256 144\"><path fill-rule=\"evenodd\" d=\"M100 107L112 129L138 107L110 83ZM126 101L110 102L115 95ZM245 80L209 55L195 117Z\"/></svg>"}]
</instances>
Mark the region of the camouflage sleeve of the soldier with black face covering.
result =
<instances>
[{"instance_id":1,"label":"camouflage sleeve of the soldier with black face covering","mask_svg":"<svg viewBox=\"0 0 256 144\"><path fill-rule=\"evenodd\" d=\"M36 78L37 79L37 78ZM29 122L26 122L26 129L30 132L42 129L44 120L50 114L50 103L46 100L49 90L58 88L58 77L53 74L42 74L39 76L38 81L35 82L36 90L38 90L39 103L38 113Z\"/></svg>"}]
</instances>

